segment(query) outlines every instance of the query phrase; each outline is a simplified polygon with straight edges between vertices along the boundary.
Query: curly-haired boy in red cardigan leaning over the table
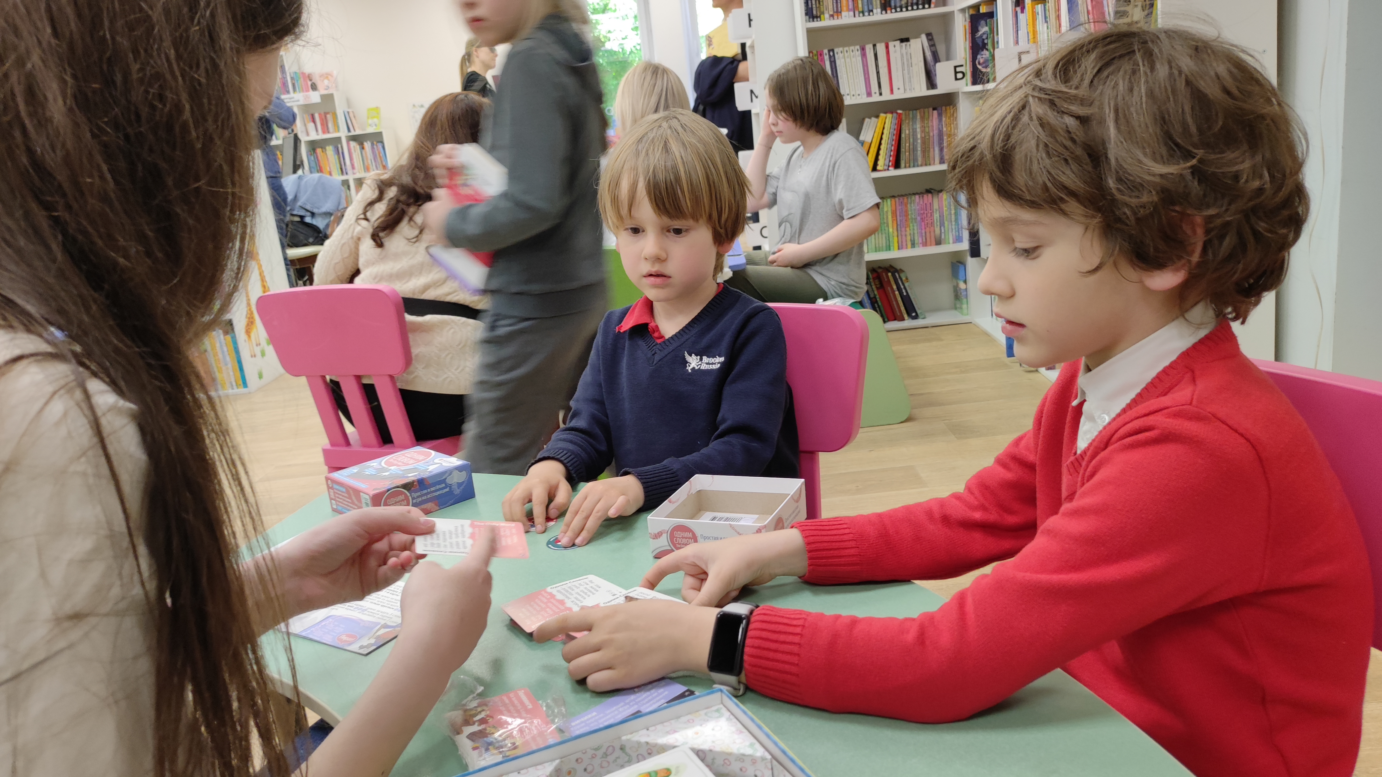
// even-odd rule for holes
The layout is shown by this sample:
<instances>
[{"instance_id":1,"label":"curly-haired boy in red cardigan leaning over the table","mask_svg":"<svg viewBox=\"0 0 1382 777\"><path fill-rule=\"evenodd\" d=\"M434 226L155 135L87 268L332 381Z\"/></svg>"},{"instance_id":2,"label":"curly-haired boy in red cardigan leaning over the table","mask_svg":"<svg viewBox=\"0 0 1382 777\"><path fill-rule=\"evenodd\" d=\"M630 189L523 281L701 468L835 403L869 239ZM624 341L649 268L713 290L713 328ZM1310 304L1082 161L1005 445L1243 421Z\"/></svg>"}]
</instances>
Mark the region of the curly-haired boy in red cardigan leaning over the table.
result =
<instances>
[{"instance_id":1,"label":"curly-haired boy in red cardigan leaning over the table","mask_svg":"<svg viewBox=\"0 0 1382 777\"><path fill-rule=\"evenodd\" d=\"M1285 274L1300 145L1244 51L1186 30L1086 35L1003 80L949 170L992 236L980 290L1017 357L1066 364L1032 429L960 494L692 545L643 581L684 571L703 607L585 610L538 637L590 630L562 650L571 675L629 687L706 671L716 607L744 586L1003 561L916 618L759 607L742 680L943 723L1061 668L1197 774L1352 774L1367 556L1305 422L1229 326Z\"/></svg>"}]
</instances>

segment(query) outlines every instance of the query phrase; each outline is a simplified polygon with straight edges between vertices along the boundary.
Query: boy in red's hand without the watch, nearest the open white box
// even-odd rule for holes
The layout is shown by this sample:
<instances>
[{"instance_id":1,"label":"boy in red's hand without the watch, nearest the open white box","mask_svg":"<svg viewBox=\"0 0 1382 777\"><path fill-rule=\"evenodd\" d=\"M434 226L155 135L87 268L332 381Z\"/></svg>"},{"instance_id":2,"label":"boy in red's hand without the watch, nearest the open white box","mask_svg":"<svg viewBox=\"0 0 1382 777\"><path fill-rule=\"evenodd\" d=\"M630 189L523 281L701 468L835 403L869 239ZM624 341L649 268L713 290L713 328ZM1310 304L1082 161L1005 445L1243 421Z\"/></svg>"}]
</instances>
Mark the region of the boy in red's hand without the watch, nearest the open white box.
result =
<instances>
[{"instance_id":1,"label":"boy in red's hand without the watch, nearest the open white box","mask_svg":"<svg viewBox=\"0 0 1382 777\"><path fill-rule=\"evenodd\" d=\"M697 542L669 553L638 585L656 589L662 578L685 572L681 599L701 607L724 607L746 585L806 574L806 541L795 528Z\"/></svg>"}]
</instances>

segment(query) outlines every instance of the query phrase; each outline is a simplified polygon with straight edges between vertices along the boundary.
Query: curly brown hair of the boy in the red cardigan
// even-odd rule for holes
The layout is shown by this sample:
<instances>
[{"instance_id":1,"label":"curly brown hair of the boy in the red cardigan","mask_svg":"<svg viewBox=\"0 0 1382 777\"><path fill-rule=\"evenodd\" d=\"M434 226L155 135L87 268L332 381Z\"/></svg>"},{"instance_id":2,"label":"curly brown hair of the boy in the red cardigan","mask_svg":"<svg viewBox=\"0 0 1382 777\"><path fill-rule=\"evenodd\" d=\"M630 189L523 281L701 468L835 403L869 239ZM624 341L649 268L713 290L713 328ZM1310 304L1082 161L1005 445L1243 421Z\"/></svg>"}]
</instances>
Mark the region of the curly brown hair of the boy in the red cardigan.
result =
<instances>
[{"instance_id":1,"label":"curly brown hair of the boy in the red cardigan","mask_svg":"<svg viewBox=\"0 0 1382 777\"><path fill-rule=\"evenodd\" d=\"M1248 50L1186 29L1090 33L1027 65L984 100L951 155L951 188L1056 210L1099 230L1142 271L1204 245L1189 307L1247 319L1281 285L1305 227L1305 133Z\"/></svg>"}]
</instances>

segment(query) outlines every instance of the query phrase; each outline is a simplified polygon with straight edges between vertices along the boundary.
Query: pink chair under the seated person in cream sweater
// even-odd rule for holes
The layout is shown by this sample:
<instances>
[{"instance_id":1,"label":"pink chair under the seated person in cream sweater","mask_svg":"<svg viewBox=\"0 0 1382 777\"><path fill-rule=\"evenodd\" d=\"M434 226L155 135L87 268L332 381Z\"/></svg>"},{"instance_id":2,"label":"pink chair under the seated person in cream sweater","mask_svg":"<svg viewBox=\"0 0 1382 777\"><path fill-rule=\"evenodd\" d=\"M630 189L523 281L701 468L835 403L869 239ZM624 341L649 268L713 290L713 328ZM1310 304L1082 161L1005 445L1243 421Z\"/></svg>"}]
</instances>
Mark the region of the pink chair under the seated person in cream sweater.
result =
<instances>
[{"instance_id":1,"label":"pink chair under the seated person in cream sweater","mask_svg":"<svg viewBox=\"0 0 1382 777\"><path fill-rule=\"evenodd\" d=\"M460 451L460 437L417 442L404 411L395 376L413 362L404 324L404 299L391 286L344 285L305 286L271 292L258 299L258 315L289 375L307 376L316 401L316 413L326 427L328 444L322 459L328 471L351 467L387 455L390 451L423 445L448 455ZM346 394L355 431L336 409L326 383L334 375ZM375 379L379 404L394 438L384 445L369 409L361 376Z\"/></svg>"}]
</instances>

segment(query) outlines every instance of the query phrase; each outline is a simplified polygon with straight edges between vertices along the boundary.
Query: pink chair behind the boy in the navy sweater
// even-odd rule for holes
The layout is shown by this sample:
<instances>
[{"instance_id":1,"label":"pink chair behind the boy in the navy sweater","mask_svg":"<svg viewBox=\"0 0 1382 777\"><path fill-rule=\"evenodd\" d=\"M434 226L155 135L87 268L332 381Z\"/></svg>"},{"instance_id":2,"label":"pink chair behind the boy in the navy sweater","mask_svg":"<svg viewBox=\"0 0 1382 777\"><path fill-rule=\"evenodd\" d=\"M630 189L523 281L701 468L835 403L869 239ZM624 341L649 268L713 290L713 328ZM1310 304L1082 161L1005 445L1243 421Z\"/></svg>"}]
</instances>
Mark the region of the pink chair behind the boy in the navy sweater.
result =
<instances>
[{"instance_id":1,"label":"pink chair behind the boy in the navy sweater","mask_svg":"<svg viewBox=\"0 0 1382 777\"><path fill-rule=\"evenodd\" d=\"M773 303L786 335L786 383L806 480L806 517L821 517L821 453L860 433L868 325L851 307Z\"/></svg>"}]
</instances>

